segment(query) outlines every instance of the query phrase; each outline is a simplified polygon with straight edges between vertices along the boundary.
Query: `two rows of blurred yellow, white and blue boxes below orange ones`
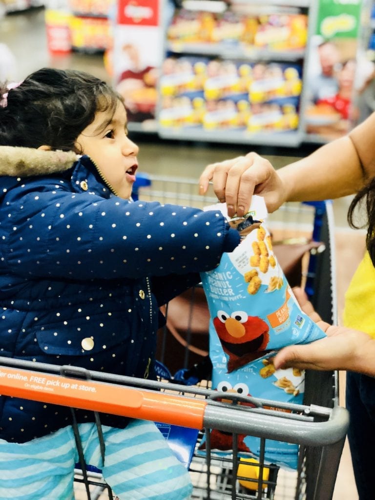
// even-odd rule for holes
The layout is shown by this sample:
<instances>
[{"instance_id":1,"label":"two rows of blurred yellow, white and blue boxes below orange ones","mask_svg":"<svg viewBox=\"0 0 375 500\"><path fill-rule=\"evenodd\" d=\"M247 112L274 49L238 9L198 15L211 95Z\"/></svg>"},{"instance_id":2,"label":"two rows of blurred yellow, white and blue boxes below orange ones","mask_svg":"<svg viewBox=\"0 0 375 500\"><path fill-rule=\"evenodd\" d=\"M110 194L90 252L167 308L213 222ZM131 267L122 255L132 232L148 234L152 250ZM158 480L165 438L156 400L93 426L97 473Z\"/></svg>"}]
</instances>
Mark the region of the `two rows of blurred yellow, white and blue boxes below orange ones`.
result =
<instances>
[{"instance_id":1,"label":"two rows of blurred yellow, white and blue boxes below orange ones","mask_svg":"<svg viewBox=\"0 0 375 500\"><path fill-rule=\"evenodd\" d=\"M298 64L168 57L160 77L159 124L293 130L298 126L301 87Z\"/></svg>"}]
</instances>

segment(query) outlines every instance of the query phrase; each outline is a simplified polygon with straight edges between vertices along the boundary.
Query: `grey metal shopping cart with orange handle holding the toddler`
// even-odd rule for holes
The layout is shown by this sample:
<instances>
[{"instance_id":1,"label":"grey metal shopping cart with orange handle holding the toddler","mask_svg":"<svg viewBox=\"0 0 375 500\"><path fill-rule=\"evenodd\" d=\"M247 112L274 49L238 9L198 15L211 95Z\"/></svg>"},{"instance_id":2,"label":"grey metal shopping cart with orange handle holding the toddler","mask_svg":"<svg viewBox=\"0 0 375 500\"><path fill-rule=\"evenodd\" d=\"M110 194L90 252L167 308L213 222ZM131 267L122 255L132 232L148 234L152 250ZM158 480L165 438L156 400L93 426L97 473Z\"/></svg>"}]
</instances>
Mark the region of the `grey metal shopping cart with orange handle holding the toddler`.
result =
<instances>
[{"instance_id":1,"label":"grey metal shopping cart with orange handle holding the toddler","mask_svg":"<svg viewBox=\"0 0 375 500\"><path fill-rule=\"evenodd\" d=\"M151 176L149 180L145 183L148 185L140 187L136 193L139 199L195 206L216 202L213 195L200 197L195 194L195 180L160 176ZM318 312L329 321L336 318L334 246L330 232L332 220L329 202L317 205L293 203L272 214L267 224L274 239L282 245L303 247L312 235L316 239L312 254L304 251L301 257L301 279ZM308 259L305 259L306 254ZM323 285L320 286L320 283ZM192 291L188 298L185 330L179 328L177 331L183 344L183 356L178 365L178 371L181 373L182 370L180 377L170 374L173 370L170 370L164 356L171 338L175 340L169 329L172 326L168 304L167 326L160 330L158 339L158 357L165 370L160 371L157 380L0 357L0 393L70 406L73 414L73 408L86 408L196 429L196 444L188 461L194 499L329 500L348 423L347 411L338 404L337 373L307 372L303 404L280 403L238 394L232 396L231 402L220 401L223 394L210 388L206 345L196 347L196 338L192 336L194 332L189 331L196 297L196 290ZM207 331L205 335L199 333L199 336L208 342ZM195 351L191 350L192 347ZM49 380L48 390L27 384L35 372ZM81 384L82 379L90 390L71 388L77 386L72 382ZM68 383L63 384L61 380ZM98 419L97 428L103 450ZM232 452L227 456L218 457L211 450L210 431L213 429L231 434ZM260 453L255 462L239 456L238 434L259 438ZM205 456L198 452L203 437ZM283 470L265 462L265 443L269 439L299 445L297 470ZM84 463L77 432L76 441L80 456L76 483L82 485L87 498L112 498L100 471L90 470ZM77 498L83 498L78 489Z\"/></svg>"}]
</instances>

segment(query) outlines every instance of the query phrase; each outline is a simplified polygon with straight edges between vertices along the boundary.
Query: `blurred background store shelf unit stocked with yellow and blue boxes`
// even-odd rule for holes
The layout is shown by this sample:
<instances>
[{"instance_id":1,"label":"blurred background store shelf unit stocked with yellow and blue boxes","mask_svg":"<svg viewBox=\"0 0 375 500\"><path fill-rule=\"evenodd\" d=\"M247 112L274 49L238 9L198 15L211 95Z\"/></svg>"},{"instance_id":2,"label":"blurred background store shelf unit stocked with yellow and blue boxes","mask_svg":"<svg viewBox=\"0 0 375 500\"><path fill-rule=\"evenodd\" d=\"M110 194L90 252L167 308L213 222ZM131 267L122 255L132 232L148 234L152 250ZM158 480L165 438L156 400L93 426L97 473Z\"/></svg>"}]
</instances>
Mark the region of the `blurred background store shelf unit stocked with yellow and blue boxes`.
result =
<instances>
[{"instance_id":1,"label":"blurred background store shelf unit stocked with yellow and blue boxes","mask_svg":"<svg viewBox=\"0 0 375 500\"><path fill-rule=\"evenodd\" d=\"M298 146L309 3L182 2L163 28L159 135Z\"/></svg>"}]
</instances>

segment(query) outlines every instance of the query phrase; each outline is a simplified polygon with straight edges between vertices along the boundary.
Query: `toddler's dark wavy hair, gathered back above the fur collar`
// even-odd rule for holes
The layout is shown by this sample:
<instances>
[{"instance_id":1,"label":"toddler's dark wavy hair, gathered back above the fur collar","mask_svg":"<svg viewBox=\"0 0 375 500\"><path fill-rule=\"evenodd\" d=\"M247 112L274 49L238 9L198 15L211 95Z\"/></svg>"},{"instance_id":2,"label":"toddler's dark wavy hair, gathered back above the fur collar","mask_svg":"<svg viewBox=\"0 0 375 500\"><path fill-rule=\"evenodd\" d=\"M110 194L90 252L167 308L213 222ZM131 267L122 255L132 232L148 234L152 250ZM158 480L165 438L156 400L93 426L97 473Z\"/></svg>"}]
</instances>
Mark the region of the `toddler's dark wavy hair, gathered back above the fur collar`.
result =
<instances>
[{"instance_id":1,"label":"toddler's dark wavy hair, gathered back above the fur collar","mask_svg":"<svg viewBox=\"0 0 375 500\"><path fill-rule=\"evenodd\" d=\"M74 142L97 111L114 114L121 97L104 81L75 70L42 68L16 88L0 85L0 145L75 150Z\"/></svg>"}]
</instances>

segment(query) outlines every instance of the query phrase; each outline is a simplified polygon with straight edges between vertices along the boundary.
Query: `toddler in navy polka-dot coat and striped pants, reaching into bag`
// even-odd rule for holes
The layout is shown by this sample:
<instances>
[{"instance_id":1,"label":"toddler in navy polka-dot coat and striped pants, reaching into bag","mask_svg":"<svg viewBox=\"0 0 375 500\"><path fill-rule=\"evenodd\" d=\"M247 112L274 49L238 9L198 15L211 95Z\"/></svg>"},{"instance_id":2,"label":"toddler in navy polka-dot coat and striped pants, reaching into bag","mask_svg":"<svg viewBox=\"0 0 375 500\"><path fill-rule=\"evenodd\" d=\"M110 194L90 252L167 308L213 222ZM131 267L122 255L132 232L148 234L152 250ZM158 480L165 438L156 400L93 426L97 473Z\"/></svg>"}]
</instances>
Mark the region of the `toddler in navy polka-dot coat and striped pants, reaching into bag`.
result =
<instances>
[{"instance_id":1,"label":"toddler in navy polka-dot coat and striped pants, reaching into bag","mask_svg":"<svg viewBox=\"0 0 375 500\"><path fill-rule=\"evenodd\" d=\"M43 68L0 88L1 356L152 377L159 306L239 242L217 211L131 200L138 147L121 97ZM189 498L153 422L77 410L86 463L119 498ZM0 396L0 498L70 500L70 408Z\"/></svg>"}]
</instances>

